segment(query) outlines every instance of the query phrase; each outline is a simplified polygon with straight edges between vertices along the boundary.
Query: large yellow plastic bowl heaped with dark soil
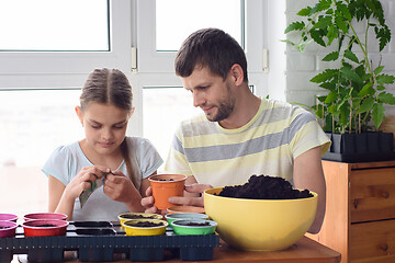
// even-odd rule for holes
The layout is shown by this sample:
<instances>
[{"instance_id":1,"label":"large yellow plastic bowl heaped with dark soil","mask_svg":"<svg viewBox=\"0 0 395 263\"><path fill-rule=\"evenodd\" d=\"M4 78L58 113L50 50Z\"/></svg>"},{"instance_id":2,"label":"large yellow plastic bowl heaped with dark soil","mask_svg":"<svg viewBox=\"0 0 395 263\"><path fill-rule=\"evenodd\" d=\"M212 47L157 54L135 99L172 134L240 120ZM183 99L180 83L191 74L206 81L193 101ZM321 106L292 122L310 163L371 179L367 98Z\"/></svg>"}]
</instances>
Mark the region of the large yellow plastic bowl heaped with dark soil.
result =
<instances>
[{"instance_id":1,"label":"large yellow plastic bowl heaped with dark soil","mask_svg":"<svg viewBox=\"0 0 395 263\"><path fill-rule=\"evenodd\" d=\"M217 196L223 187L204 192L206 215L216 231L240 250L283 250L300 240L312 226L318 195L301 199L244 199Z\"/></svg>"}]
</instances>

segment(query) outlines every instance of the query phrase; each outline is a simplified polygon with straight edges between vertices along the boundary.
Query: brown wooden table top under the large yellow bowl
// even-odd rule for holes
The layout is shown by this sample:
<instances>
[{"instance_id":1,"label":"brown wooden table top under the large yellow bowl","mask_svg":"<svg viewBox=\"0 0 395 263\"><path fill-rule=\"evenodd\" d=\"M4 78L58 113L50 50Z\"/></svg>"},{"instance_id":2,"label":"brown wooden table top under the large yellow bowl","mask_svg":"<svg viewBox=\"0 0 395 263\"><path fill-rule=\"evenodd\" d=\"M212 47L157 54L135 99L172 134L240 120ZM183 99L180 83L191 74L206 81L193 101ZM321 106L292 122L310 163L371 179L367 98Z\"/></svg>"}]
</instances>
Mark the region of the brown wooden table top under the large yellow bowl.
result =
<instances>
[{"instance_id":1,"label":"brown wooden table top under the large yellow bowl","mask_svg":"<svg viewBox=\"0 0 395 263\"><path fill-rule=\"evenodd\" d=\"M339 263L340 253L331 250L307 237L303 237L291 248L282 251L256 252L256 251L238 251L229 248L225 242L221 241L218 248L214 249L212 261L202 262L221 262L221 263L257 263L257 262L275 262L275 263ZM19 258L20 262L26 262L23 256ZM76 258L65 256L63 262L78 263ZM128 260L117 260L115 263L129 263ZM158 263L168 262L188 262L179 259L167 259Z\"/></svg>"}]
</instances>

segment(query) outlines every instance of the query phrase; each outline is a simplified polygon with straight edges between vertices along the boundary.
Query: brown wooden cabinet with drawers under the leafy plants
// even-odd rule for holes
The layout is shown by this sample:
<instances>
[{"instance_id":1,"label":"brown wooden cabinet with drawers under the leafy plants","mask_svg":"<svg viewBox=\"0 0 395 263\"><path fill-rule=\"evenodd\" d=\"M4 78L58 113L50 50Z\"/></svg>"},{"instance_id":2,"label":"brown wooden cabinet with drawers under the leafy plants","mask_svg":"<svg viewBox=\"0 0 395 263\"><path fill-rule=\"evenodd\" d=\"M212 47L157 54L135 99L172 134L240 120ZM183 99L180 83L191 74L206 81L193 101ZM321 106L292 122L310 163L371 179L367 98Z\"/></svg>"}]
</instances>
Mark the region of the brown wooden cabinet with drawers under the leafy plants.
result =
<instances>
[{"instance_id":1,"label":"brown wooden cabinet with drawers under the leafy plants","mask_svg":"<svg viewBox=\"0 0 395 263\"><path fill-rule=\"evenodd\" d=\"M318 235L341 262L395 262L395 161L323 161L327 205Z\"/></svg>"}]
</instances>

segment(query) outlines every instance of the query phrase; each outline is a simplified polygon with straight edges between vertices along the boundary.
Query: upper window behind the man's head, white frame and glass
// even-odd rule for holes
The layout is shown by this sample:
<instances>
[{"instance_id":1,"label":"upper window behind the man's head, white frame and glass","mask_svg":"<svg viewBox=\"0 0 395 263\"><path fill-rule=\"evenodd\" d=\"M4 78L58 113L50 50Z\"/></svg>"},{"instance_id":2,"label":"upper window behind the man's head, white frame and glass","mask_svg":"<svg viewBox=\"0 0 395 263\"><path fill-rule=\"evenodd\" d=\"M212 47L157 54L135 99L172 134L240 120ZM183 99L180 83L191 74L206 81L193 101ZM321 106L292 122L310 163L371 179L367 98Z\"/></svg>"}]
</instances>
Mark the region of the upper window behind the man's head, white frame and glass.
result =
<instances>
[{"instance_id":1,"label":"upper window behind the man's head, white frame and glass","mask_svg":"<svg viewBox=\"0 0 395 263\"><path fill-rule=\"evenodd\" d=\"M137 32L138 72L173 72L176 53L171 50L178 49L193 31L210 26L219 27L239 39L246 50L249 71L262 72L262 48L267 39L263 27L257 24L266 23L262 15L266 4L260 0L139 0L137 24L144 24L145 30ZM222 23L225 21L227 23Z\"/></svg>"}]
</instances>

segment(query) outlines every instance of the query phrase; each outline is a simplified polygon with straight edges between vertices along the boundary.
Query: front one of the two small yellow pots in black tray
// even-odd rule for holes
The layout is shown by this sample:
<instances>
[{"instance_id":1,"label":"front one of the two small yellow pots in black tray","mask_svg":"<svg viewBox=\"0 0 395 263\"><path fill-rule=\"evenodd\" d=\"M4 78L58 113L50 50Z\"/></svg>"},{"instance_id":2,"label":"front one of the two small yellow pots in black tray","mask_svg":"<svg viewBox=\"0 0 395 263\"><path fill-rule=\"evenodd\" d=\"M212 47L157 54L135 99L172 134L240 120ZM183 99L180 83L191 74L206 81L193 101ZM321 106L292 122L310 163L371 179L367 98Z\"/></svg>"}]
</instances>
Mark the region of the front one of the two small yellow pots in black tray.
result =
<instances>
[{"instance_id":1,"label":"front one of the two small yellow pots in black tray","mask_svg":"<svg viewBox=\"0 0 395 263\"><path fill-rule=\"evenodd\" d=\"M139 221L150 221L150 222L162 222L162 226L158 227L136 227L136 225ZM132 219L126 220L122 224L122 227L124 227L126 236L160 236L165 235L166 227L169 226L169 224L165 220L159 219Z\"/></svg>"}]
</instances>

